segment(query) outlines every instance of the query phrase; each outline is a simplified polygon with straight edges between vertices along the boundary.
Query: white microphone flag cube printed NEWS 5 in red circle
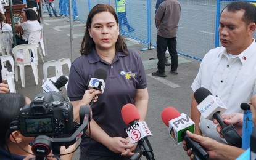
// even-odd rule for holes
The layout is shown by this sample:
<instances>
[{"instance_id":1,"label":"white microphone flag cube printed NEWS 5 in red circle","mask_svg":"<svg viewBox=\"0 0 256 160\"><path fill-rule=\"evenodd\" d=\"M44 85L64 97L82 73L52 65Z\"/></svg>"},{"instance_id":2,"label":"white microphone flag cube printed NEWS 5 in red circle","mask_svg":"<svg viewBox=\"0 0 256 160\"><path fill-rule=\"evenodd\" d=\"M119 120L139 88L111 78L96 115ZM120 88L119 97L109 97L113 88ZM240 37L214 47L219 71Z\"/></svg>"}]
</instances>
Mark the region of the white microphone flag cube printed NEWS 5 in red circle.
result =
<instances>
[{"instance_id":1,"label":"white microphone flag cube printed NEWS 5 in red circle","mask_svg":"<svg viewBox=\"0 0 256 160\"><path fill-rule=\"evenodd\" d=\"M146 122L140 121L133 124L133 126L126 129L126 133L131 140L131 143L136 143L144 137L151 136L151 131L147 127Z\"/></svg>"}]
</instances>

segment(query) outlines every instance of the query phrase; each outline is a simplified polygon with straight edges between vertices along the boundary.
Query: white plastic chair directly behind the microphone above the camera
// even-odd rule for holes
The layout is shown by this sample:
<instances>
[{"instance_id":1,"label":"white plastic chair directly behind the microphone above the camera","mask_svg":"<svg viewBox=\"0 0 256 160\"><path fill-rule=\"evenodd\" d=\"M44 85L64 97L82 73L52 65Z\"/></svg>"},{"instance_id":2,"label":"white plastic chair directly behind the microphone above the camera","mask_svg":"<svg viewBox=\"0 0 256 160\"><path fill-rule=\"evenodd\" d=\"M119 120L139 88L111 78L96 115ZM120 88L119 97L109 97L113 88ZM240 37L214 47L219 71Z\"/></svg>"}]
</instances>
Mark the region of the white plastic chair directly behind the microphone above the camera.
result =
<instances>
[{"instance_id":1,"label":"white plastic chair directly behind the microphone above the camera","mask_svg":"<svg viewBox=\"0 0 256 160\"><path fill-rule=\"evenodd\" d=\"M47 81L47 79L51 79L52 81L56 82L56 80L63 75L63 70L62 70L62 65L68 65L68 72L70 71L70 67L71 67L71 61L70 58L63 58L63 59L59 59L59 60L50 60L47 62L44 62L43 65L43 73L44 73L44 79L42 80L42 84L44 84L44 82ZM55 67L55 77L50 77L47 78L47 69L50 66L54 66ZM68 78L68 76L66 76ZM67 89L67 84L65 84L65 87ZM43 90L44 92L44 90Z\"/></svg>"}]
</instances>

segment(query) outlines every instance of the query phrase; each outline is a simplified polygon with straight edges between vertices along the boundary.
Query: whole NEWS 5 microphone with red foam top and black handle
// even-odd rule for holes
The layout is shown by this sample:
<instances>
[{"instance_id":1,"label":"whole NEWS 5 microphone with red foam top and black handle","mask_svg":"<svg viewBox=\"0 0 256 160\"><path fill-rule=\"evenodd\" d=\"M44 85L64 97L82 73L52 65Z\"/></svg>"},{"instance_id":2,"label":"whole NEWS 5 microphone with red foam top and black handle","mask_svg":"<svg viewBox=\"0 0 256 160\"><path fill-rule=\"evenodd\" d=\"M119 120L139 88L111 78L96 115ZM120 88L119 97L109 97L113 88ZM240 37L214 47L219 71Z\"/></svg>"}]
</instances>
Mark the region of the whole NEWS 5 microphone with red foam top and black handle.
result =
<instances>
[{"instance_id":1,"label":"whole NEWS 5 microphone with red foam top and black handle","mask_svg":"<svg viewBox=\"0 0 256 160\"><path fill-rule=\"evenodd\" d=\"M151 143L147 137L151 134L149 127L147 127L146 122L139 121L140 116L139 112L133 104L126 104L123 106L121 110L122 118L125 124L130 125L128 129L126 129L126 133L131 140L131 143L138 142L139 148L141 148L142 153L148 160L154 160L155 156L153 153L153 149ZM138 159L141 155L141 151L135 153L130 159Z\"/></svg>"}]
</instances>

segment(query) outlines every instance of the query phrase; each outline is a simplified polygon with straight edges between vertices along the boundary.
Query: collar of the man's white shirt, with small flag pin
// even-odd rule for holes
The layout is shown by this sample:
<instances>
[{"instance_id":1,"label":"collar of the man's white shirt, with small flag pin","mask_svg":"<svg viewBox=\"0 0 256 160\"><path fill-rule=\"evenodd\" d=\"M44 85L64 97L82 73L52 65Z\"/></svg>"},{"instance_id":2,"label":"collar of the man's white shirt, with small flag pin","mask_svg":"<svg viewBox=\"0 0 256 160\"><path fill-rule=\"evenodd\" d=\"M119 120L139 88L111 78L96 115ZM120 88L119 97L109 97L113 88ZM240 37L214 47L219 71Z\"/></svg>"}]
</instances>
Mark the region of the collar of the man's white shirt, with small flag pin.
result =
<instances>
[{"instance_id":1,"label":"collar of the man's white shirt, with small flag pin","mask_svg":"<svg viewBox=\"0 0 256 160\"><path fill-rule=\"evenodd\" d=\"M247 49L242 51L242 53L237 56L239 58L240 62L242 63L242 65L244 65L244 63L246 63L246 60L248 60L248 58L250 58L252 56L252 54L254 54L254 52L255 52L256 42L255 42L254 38L252 38L252 39L253 39L253 41L250 44L250 46L247 47ZM228 51L226 48L223 47L223 50L220 50L218 57L220 57L220 56L228 57Z\"/></svg>"}]
</instances>

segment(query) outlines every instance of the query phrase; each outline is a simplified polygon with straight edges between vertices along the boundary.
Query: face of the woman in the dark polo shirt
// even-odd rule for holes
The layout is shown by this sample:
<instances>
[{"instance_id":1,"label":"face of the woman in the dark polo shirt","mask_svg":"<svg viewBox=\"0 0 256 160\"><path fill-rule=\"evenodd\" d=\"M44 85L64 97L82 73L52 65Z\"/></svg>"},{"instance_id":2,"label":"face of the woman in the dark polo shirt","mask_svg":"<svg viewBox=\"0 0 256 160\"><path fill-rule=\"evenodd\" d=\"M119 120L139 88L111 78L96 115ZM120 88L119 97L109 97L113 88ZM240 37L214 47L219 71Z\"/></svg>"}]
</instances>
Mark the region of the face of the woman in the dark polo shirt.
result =
<instances>
[{"instance_id":1,"label":"face of the woman in the dark polo shirt","mask_svg":"<svg viewBox=\"0 0 256 160\"><path fill-rule=\"evenodd\" d=\"M96 49L115 49L119 35L119 26L110 12L101 12L94 15L89 34L95 43Z\"/></svg>"}]
</instances>

